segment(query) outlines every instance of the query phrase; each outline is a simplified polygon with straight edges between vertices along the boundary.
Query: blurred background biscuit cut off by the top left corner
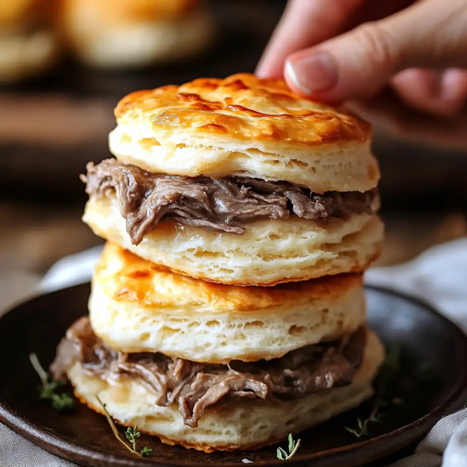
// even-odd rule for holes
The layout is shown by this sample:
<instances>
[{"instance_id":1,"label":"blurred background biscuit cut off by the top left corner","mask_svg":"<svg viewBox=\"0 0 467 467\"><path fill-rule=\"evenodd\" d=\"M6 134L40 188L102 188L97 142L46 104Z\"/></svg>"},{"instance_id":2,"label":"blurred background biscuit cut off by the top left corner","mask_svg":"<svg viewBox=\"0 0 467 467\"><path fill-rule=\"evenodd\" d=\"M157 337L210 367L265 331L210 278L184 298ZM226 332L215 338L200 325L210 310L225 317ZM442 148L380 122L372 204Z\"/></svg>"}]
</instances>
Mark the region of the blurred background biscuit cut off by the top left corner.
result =
<instances>
[{"instance_id":1,"label":"blurred background biscuit cut off by the top left corner","mask_svg":"<svg viewBox=\"0 0 467 467\"><path fill-rule=\"evenodd\" d=\"M47 70L57 57L52 0L0 1L0 83Z\"/></svg>"}]
</instances>

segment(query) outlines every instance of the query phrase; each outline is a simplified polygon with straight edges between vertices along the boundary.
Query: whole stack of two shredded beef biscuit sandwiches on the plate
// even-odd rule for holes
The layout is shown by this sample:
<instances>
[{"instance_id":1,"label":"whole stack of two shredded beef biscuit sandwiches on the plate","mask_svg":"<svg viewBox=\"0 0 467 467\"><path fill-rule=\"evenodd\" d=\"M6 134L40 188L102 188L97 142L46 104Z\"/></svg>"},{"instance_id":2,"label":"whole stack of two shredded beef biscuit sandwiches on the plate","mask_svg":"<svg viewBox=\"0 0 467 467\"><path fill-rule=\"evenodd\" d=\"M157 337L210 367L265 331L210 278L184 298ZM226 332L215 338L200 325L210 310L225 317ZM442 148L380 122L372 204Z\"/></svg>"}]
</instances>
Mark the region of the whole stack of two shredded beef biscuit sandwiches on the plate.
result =
<instances>
[{"instance_id":1,"label":"whole stack of two shredded beef biscuit sandwiches on the plate","mask_svg":"<svg viewBox=\"0 0 467 467\"><path fill-rule=\"evenodd\" d=\"M83 177L84 220L108 242L55 376L206 452L272 444L371 396L369 125L249 74L134 92L115 115L116 159Z\"/></svg>"}]
</instances>

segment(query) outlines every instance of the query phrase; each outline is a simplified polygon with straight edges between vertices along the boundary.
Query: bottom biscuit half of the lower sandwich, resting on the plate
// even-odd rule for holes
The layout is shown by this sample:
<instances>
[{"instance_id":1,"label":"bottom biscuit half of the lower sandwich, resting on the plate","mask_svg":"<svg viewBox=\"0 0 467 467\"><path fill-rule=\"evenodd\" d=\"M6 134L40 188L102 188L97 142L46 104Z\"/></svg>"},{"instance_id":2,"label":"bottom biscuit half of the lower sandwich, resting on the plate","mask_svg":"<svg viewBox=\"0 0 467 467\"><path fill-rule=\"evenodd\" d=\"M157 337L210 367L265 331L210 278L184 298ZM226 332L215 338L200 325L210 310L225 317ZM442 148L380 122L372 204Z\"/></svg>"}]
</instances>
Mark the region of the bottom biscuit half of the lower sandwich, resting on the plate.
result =
<instances>
[{"instance_id":1,"label":"bottom biscuit half of the lower sandwich, resting on the plate","mask_svg":"<svg viewBox=\"0 0 467 467\"><path fill-rule=\"evenodd\" d=\"M92 410L103 413L99 397L121 425L137 424L163 443L212 452L267 446L359 405L372 395L371 383L383 357L380 341L368 332L363 361L351 384L285 402L248 399L214 405L205 410L196 428L184 424L176 403L157 405L157 395L135 378L109 382L88 375L79 362L67 376L75 396Z\"/></svg>"}]
</instances>

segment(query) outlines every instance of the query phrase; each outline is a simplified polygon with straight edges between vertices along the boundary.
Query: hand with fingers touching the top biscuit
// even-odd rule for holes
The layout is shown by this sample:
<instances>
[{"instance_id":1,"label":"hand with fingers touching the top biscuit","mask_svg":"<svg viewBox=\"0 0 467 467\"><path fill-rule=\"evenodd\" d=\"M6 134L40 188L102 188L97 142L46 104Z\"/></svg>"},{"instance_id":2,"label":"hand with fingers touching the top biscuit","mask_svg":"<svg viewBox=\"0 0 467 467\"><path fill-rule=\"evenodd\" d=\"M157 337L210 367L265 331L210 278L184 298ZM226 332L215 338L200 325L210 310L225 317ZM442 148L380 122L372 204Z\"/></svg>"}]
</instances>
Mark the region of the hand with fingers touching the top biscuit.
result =
<instances>
[{"instance_id":1,"label":"hand with fingers touching the top biscuit","mask_svg":"<svg viewBox=\"0 0 467 467\"><path fill-rule=\"evenodd\" d=\"M466 0L290 0L257 74L325 101L392 85L407 103L453 114L467 96Z\"/></svg>"}]
</instances>

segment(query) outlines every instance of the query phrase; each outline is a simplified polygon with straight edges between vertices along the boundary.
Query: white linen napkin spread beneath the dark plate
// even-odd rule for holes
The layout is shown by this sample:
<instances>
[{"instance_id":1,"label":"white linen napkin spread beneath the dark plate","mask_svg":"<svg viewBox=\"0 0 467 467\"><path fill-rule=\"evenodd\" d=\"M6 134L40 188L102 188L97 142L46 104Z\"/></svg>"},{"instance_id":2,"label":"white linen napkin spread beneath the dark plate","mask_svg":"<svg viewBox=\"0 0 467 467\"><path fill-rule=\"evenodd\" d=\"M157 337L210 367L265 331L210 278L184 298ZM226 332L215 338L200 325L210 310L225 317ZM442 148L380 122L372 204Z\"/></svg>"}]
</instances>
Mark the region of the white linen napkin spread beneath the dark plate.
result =
<instances>
[{"instance_id":1,"label":"white linen napkin spread beneath the dark plate","mask_svg":"<svg viewBox=\"0 0 467 467\"><path fill-rule=\"evenodd\" d=\"M101 248L60 260L42 278L40 287L31 287L25 295L87 282ZM370 269L366 282L420 297L467 332L467 237L430 248L405 264ZM0 424L0 466L65 467L74 464L43 451ZM441 419L414 454L388 467L467 467L467 408Z\"/></svg>"}]
</instances>

